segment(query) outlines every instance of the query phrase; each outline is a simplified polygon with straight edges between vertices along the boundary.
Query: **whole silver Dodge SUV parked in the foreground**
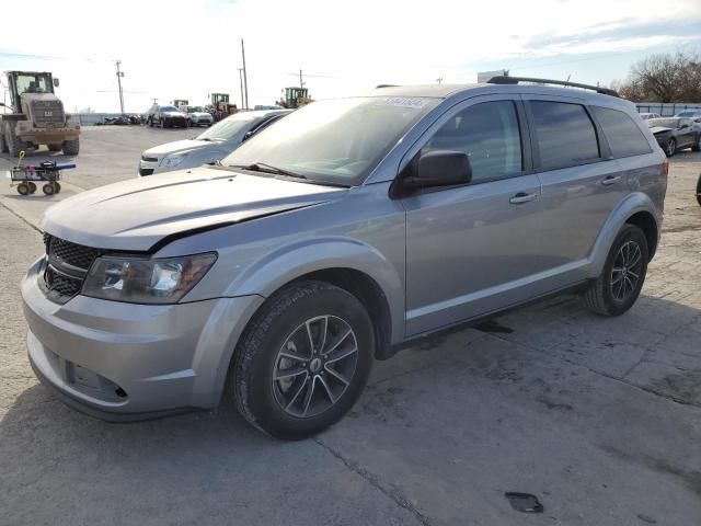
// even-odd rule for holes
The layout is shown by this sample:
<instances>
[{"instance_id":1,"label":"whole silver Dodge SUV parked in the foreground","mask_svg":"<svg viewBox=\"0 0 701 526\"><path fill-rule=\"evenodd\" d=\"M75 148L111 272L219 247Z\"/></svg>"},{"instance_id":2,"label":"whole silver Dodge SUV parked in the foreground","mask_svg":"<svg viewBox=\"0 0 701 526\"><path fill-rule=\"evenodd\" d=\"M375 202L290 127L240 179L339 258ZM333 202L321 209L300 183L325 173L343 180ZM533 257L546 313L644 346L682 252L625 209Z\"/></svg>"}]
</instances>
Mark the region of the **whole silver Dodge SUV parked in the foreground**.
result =
<instances>
[{"instance_id":1,"label":"whole silver Dodge SUV parked in the foreground","mask_svg":"<svg viewBox=\"0 0 701 526\"><path fill-rule=\"evenodd\" d=\"M314 102L219 165L55 205L22 284L36 375L108 420L223 396L300 438L436 331L573 290L625 312L665 155L606 90L501 82Z\"/></svg>"}]
</instances>

